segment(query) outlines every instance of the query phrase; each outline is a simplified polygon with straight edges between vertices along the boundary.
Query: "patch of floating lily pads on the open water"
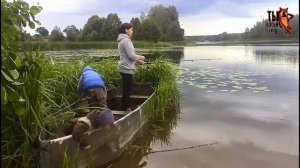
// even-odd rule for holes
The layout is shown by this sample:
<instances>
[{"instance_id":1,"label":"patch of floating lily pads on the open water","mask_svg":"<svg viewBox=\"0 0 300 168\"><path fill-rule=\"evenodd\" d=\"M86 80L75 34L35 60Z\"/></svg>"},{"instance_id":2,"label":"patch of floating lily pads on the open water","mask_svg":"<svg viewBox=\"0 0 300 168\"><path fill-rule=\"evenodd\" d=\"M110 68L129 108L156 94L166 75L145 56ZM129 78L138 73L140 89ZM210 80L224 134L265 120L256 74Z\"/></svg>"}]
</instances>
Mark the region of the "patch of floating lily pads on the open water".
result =
<instances>
[{"instance_id":1,"label":"patch of floating lily pads on the open water","mask_svg":"<svg viewBox=\"0 0 300 168\"><path fill-rule=\"evenodd\" d=\"M260 76L260 78L268 78L272 74L256 74L243 71L232 72L231 70L221 70L207 66L197 69L199 72L197 72L196 69L182 69L182 76L185 79L184 83L197 87L207 93L215 91L230 91L230 93L234 93L241 91L242 89L250 90L253 93L270 91L266 85L266 81L258 80L258 76ZM210 69L213 69L214 71L210 72Z\"/></svg>"}]
</instances>

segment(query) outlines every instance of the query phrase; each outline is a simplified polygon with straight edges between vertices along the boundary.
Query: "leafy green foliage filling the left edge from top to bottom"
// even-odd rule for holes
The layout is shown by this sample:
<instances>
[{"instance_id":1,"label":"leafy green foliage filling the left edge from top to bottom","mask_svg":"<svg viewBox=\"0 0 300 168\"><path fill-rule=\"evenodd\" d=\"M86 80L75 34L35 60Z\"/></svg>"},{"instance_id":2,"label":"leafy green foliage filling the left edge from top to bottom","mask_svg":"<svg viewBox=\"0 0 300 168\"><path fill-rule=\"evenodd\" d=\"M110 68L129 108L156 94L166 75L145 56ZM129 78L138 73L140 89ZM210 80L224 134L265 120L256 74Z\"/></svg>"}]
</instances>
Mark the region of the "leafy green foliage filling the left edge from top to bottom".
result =
<instances>
[{"instance_id":1,"label":"leafy green foliage filling the left edge from top to bottom","mask_svg":"<svg viewBox=\"0 0 300 168\"><path fill-rule=\"evenodd\" d=\"M1 0L1 166L35 167L37 137L43 129L40 111L40 52L22 57L16 41L23 27L40 24L40 6Z\"/></svg>"}]
</instances>

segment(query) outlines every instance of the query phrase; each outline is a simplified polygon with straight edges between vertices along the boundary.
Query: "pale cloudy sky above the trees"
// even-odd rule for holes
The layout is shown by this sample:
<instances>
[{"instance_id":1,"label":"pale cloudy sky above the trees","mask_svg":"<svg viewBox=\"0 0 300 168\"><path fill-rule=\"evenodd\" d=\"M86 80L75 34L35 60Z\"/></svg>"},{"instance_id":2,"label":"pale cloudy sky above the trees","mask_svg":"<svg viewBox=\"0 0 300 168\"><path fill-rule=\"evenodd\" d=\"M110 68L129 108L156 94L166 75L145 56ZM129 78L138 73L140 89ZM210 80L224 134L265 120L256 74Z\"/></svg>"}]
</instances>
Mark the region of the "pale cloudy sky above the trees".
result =
<instances>
[{"instance_id":1,"label":"pale cloudy sky above the trees","mask_svg":"<svg viewBox=\"0 0 300 168\"><path fill-rule=\"evenodd\" d=\"M268 17L267 10L289 8L289 13L299 14L298 0L25 0L30 5L43 7L36 18L49 33L54 26L63 30L68 25L83 28L92 15L106 17L117 13L122 22L147 13L158 4L173 5L179 12L181 28L185 35L213 35L222 32L241 33L253 27L256 21ZM34 34L34 30L26 28Z\"/></svg>"}]
</instances>

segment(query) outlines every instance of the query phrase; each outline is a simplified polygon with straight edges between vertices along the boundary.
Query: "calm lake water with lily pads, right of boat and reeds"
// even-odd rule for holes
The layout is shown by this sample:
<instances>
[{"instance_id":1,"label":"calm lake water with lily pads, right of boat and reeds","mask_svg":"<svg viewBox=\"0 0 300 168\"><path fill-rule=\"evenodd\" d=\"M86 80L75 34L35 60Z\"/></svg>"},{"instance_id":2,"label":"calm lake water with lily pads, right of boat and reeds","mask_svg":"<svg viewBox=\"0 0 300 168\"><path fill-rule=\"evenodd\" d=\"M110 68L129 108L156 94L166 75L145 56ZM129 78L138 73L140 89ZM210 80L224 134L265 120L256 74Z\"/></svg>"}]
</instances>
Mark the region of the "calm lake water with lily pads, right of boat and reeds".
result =
<instances>
[{"instance_id":1,"label":"calm lake water with lily pads, right of boat and reeds","mask_svg":"<svg viewBox=\"0 0 300 168\"><path fill-rule=\"evenodd\" d=\"M150 124L106 167L298 167L298 50L197 46L168 53L181 60L179 112Z\"/></svg>"}]
</instances>

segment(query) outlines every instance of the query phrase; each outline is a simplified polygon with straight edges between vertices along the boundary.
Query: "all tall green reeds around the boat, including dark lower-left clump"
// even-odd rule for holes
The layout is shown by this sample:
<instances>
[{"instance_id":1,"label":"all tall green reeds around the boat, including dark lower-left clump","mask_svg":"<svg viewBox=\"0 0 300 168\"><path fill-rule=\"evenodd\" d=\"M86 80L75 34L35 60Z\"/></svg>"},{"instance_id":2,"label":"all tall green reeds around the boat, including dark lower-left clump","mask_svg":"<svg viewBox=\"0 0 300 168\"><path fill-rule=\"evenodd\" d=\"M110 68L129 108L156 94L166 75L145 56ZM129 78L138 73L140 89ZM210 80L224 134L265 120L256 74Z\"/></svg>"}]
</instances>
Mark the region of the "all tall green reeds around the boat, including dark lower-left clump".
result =
<instances>
[{"instance_id":1,"label":"all tall green reeds around the boat, including dark lower-left clump","mask_svg":"<svg viewBox=\"0 0 300 168\"><path fill-rule=\"evenodd\" d=\"M107 88L120 87L121 77L116 60L99 62L46 62L41 53L25 54L24 70L20 70L20 81L24 86L17 91L26 101L22 106L12 106L18 113L5 109L1 113L2 151L1 165L6 167L32 167L38 164L38 136L45 125L56 124L68 119L72 113L69 106L76 100L76 89L81 70L90 65L99 72ZM154 82L157 88L155 112L163 119L165 109L171 102L178 101L176 65L166 59L158 59L148 68L138 66L135 82ZM62 110L63 109L63 110ZM68 158L66 158L66 163ZM35 167L33 166L33 167Z\"/></svg>"}]
</instances>

